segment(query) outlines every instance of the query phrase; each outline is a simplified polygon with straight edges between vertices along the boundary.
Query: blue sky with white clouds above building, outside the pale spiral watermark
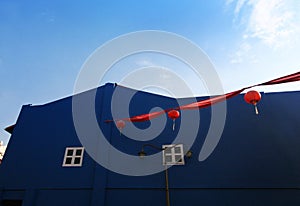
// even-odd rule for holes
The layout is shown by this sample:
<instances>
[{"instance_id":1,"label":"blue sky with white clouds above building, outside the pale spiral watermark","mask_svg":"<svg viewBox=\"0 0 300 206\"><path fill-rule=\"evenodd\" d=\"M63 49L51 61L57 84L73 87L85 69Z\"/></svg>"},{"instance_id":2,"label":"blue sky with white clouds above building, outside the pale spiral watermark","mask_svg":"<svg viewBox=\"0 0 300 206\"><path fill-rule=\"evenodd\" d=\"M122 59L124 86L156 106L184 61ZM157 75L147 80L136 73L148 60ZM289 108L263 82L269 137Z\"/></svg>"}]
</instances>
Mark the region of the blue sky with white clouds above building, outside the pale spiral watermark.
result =
<instances>
[{"instance_id":1,"label":"blue sky with white clouds above building, outside the pale spiral watermark","mask_svg":"<svg viewBox=\"0 0 300 206\"><path fill-rule=\"evenodd\" d=\"M190 39L210 57L225 91L297 72L299 10L297 0L1 0L0 128L15 123L24 104L72 95L89 55L128 32L162 30ZM107 81L118 82L116 74ZM1 129L0 140L8 139Z\"/></svg>"}]
</instances>

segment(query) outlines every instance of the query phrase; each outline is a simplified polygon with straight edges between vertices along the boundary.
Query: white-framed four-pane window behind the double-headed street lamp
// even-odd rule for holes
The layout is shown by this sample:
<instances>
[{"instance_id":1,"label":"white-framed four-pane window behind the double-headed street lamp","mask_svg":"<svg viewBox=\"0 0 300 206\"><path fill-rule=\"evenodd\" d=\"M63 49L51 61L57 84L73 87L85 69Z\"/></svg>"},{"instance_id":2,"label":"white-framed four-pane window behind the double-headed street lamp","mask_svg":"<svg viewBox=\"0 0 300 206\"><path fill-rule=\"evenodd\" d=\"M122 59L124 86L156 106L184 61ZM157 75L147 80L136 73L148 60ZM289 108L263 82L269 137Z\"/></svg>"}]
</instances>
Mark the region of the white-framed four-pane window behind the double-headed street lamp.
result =
<instances>
[{"instance_id":1,"label":"white-framed four-pane window behind the double-headed street lamp","mask_svg":"<svg viewBox=\"0 0 300 206\"><path fill-rule=\"evenodd\" d=\"M183 144L163 145L164 165L184 165Z\"/></svg>"}]
</instances>

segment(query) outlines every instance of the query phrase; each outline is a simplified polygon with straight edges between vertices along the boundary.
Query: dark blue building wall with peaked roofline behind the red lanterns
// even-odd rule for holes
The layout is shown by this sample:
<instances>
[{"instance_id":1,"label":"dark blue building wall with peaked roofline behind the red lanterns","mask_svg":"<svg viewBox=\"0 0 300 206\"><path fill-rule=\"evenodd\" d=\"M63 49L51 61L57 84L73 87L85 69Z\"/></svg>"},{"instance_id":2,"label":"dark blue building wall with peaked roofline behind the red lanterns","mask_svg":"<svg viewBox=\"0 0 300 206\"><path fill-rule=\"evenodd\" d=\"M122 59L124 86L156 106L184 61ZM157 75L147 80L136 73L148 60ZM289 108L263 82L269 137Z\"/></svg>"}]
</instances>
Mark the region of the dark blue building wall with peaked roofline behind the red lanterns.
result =
<instances>
[{"instance_id":1,"label":"dark blue building wall with peaked roofline behind the red lanterns","mask_svg":"<svg viewBox=\"0 0 300 206\"><path fill-rule=\"evenodd\" d=\"M45 105L23 106L16 124L7 129L12 135L0 165L0 205L300 205L300 92L263 93L259 115L243 95L229 99L220 141L207 159L199 161L210 128L210 107L200 110L199 131L191 148L184 140L170 146L183 123L177 119L173 130L166 115L153 120L166 120L156 138L141 136L139 141L126 135L130 134L127 125L120 133L114 122L106 121L113 119L111 100L117 88L115 108L122 108L122 99L132 96L130 116L154 107L178 106L175 99L115 84ZM106 140L137 158L138 164L127 168L128 173L153 164L175 165L158 173L125 175L98 164L87 149L93 145L78 138L72 111L74 98L84 102L92 94L96 94L92 111ZM189 102L192 99L181 100ZM185 121L194 121L189 118L193 112L182 111ZM123 117L127 116L119 118ZM140 129L151 126L149 121L134 124ZM184 135L191 134L186 130ZM141 148L150 156L164 145L167 149L161 150L157 161L138 157ZM108 164L120 164L120 170L126 167L126 162L110 162L110 148L100 149L97 154Z\"/></svg>"}]
</instances>

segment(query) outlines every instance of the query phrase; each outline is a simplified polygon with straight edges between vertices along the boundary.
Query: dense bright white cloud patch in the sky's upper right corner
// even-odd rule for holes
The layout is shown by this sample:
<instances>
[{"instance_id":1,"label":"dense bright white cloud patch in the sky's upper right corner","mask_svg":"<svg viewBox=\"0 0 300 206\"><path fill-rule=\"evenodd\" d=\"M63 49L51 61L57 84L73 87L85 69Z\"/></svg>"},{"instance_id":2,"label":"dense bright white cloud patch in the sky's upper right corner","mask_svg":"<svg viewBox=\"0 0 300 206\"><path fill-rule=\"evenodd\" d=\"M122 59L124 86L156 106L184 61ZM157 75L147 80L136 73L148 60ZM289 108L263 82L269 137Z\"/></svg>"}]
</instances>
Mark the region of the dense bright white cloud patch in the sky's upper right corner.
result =
<instances>
[{"instance_id":1,"label":"dense bright white cloud patch in the sky's upper right corner","mask_svg":"<svg viewBox=\"0 0 300 206\"><path fill-rule=\"evenodd\" d=\"M247 33L262 40L270 47L278 48L296 40L298 32L295 13L286 0L252 1L253 11L250 16Z\"/></svg>"}]
</instances>

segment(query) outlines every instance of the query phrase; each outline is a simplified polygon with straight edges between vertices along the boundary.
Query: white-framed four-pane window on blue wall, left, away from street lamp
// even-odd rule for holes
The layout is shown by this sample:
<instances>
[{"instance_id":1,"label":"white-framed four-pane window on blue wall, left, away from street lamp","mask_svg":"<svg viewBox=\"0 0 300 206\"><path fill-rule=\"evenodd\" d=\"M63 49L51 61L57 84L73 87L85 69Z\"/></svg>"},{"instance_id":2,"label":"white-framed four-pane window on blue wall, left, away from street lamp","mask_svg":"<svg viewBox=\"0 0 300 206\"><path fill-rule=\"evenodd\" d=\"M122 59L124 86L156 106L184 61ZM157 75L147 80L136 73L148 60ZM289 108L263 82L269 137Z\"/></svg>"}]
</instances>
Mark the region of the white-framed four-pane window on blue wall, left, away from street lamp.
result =
<instances>
[{"instance_id":1,"label":"white-framed four-pane window on blue wall, left, away from street lamp","mask_svg":"<svg viewBox=\"0 0 300 206\"><path fill-rule=\"evenodd\" d=\"M84 147L67 147L63 167L80 167L82 166Z\"/></svg>"}]
</instances>

